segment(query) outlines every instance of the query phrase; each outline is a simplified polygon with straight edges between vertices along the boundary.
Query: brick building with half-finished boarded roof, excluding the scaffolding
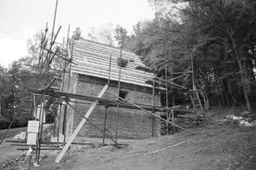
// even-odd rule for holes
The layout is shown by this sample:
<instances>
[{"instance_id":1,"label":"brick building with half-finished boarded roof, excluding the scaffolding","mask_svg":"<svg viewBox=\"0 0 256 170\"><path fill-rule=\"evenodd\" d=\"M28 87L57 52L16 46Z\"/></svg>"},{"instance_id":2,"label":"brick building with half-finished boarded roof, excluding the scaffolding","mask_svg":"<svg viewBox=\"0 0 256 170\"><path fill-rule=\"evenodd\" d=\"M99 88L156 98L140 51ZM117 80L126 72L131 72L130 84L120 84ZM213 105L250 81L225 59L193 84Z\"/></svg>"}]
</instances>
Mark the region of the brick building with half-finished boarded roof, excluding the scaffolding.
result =
<instances>
[{"instance_id":1,"label":"brick building with half-finished boarded roof, excluding the scaffolding","mask_svg":"<svg viewBox=\"0 0 256 170\"><path fill-rule=\"evenodd\" d=\"M151 106L153 86L147 84L147 80L153 79L153 73L141 68L146 66L141 62L138 55L122 51L122 64L119 64L120 49L105 44L87 40L70 40L70 57L76 65L70 68L69 92L97 96L109 80L109 89L112 94L119 95L129 102ZM121 74L119 75L121 67ZM120 86L119 86L120 82ZM64 83L69 83L65 81ZM158 89L159 90L159 89ZM116 132L116 118L118 117L118 137L129 139L142 139L160 135L160 121L152 115L142 113L137 109L125 108L125 105L112 103L117 97L106 92L103 96L106 102L97 105L89 120L99 128L106 128L109 136ZM105 104L106 103L106 104ZM80 113L86 112L90 104L84 104L81 100L72 101L71 105ZM160 106L160 93L154 96L154 105ZM104 120L105 112L107 115ZM64 113L63 113L64 114ZM67 115L67 135L77 127L81 116L69 112ZM104 122L106 125L104 125ZM102 133L89 123L85 123L79 136L81 137L102 137Z\"/></svg>"}]
</instances>

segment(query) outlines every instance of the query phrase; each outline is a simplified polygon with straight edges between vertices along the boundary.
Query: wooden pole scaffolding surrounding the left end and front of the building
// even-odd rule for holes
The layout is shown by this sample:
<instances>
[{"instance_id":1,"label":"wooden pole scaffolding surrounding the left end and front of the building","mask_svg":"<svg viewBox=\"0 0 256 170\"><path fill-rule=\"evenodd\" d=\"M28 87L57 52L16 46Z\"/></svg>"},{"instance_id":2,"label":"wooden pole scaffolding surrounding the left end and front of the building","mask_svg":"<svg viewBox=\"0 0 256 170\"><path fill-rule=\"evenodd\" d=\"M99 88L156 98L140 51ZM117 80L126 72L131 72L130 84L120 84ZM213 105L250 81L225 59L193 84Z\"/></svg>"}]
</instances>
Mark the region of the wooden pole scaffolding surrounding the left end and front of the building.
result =
<instances>
[{"instance_id":1,"label":"wooden pole scaffolding surrounding the left end and front of the building","mask_svg":"<svg viewBox=\"0 0 256 170\"><path fill-rule=\"evenodd\" d=\"M109 140L112 140L115 146L120 145L118 142L118 121L119 121L119 113L120 108L125 109L136 109L140 110L142 113L152 116L152 137L154 136L154 126L156 125L156 118L160 119L160 121L164 122L167 127L173 126L175 128L179 128L182 130L185 130L188 133L194 134L192 131L187 130L186 128L183 128L179 125L177 125L174 122L174 116L178 114L183 113L175 113L174 110L177 109L179 106L173 106L169 105L169 98L168 98L168 91L169 88L176 86L182 89L186 89L186 87L182 85L178 85L173 82L174 79L179 79L182 76L176 76L173 78L173 75L176 74L184 74L184 73L174 73L172 71L171 73L171 79L168 79L168 71L167 71L167 63L169 62L167 60L167 57L165 55L165 79L161 79L157 77L157 68L154 66L153 69L148 70L153 72L153 79L151 79L152 82L152 104L146 105L146 104L138 104L138 103L132 103L129 100L126 100L120 95L116 95L109 91L109 82L110 82L110 74L111 74L111 55L109 55L109 78L108 83L104 86L102 91L99 92L97 97L95 96L88 96L88 95L82 95L77 93L70 92L70 76L71 76L71 67L73 65L76 65L76 63L73 61L72 53L73 53L73 40L69 39L69 32L70 32L70 26L68 30L68 37L67 42L63 41L63 43L56 42L59 30L61 29L61 26L58 27L58 31L55 33L55 22L56 22L56 15L57 15L57 8L58 8L58 0L56 3L55 8L55 16L53 21L53 28L51 37L48 40L47 32L48 27L47 24L45 26L45 32L42 35L40 48L41 51L39 53L38 57L38 65L37 66L31 66L35 67L37 69L37 75L35 77L36 81L36 87L30 89L29 96L25 99L31 102L30 108L25 109L27 112L30 113L32 117L34 117L35 120L39 121L39 133L38 133L38 139L36 142L36 145L32 145L32 154L30 160L32 160L33 152L35 152L35 160L37 164L40 162L40 152L42 150L61 150L61 152L58 154L57 159L55 160L56 163L59 163L64 156L65 152L67 152L70 148L71 144L86 144L86 143L76 143L73 140L83 128L83 125L85 122L88 122L92 126L94 126L99 132L102 133L102 143L105 144L106 138ZM71 42L71 43L70 43ZM120 63L122 61L122 48L120 51ZM137 69L147 69L147 68L137 68ZM119 79L118 79L118 91L120 92L121 88L121 70L122 66L119 66ZM193 71L192 71L193 72ZM187 72L191 73L191 72ZM164 83L165 84L165 92L166 92L166 105L164 107L162 106L156 106L155 105L155 96L156 96L156 88L157 85ZM194 85L193 85L194 88ZM193 91L197 91L193 89ZM112 96L112 99L102 98L104 93L109 93ZM25 101L24 100L24 101ZM82 103L91 103L91 107L86 112L85 115L80 113L72 104L75 103L76 100L83 101ZM24 102L23 101L23 102ZM174 101L173 101L174 103ZM23 104L21 104L19 109L22 109ZM88 118L92 114L94 108L96 105L104 105L105 106L105 113L104 113L104 126L102 128L98 128L96 125L94 125ZM115 137L109 136L106 131L106 120L108 115L108 108L109 107L116 107L117 108L117 115L116 115L116 124L115 124ZM78 127L72 132L69 139L66 137L67 132L67 115L68 115L68 108L72 109L75 114L80 115L82 117L82 120ZM163 118L160 115L157 115L156 113L165 113L165 118ZM19 111L18 111L19 113ZM44 128L44 117L46 113L49 114L57 114L56 120L54 123L55 127L55 133L57 135L57 141L56 142L45 142L42 140L42 134L43 134L43 128ZM63 115L60 113L64 113ZM17 114L19 115L19 114ZM16 117L15 117L16 118ZM14 119L15 119L14 118ZM63 121L63 126L61 127L61 121ZM58 124L57 124L58 123ZM9 126L9 128L11 125ZM168 133L170 133L169 129ZM6 133L8 132L8 129L6 130ZM6 136L6 135L5 135ZM5 139L5 136L3 140ZM2 140L2 141L3 141ZM9 140L9 142L13 142ZM21 141L21 144L17 144L16 146L25 146L23 143L25 141ZM58 148L53 147L54 145L58 144ZM61 148L64 144L64 147ZM88 144L88 143L87 143ZM27 150L28 148L23 148Z\"/></svg>"}]
</instances>

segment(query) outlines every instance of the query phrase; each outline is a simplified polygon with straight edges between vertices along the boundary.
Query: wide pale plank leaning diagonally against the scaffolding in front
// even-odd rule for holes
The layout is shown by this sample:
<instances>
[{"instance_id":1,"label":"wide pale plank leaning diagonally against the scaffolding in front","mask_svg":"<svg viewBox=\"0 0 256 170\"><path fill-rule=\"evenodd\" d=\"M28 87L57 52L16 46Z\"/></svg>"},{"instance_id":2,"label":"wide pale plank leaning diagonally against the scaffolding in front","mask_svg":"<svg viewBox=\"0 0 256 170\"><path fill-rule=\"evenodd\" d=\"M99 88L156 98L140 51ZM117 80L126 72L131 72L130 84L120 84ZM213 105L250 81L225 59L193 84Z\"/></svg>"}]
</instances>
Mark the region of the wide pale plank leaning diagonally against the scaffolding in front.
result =
<instances>
[{"instance_id":1,"label":"wide pale plank leaning diagonally against the scaffolding in front","mask_svg":"<svg viewBox=\"0 0 256 170\"><path fill-rule=\"evenodd\" d=\"M105 85L105 87L103 88L103 90L98 94L97 97L101 98L103 96L103 94L105 93L105 91L107 91L108 89L108 85ZM80 122L80 124L78 125L78 127L74 130L73 134L71 135L69 141L66 143L66 145L64 146L63 150L58 154L58 157L56 158L55 162L59 163L60 160L62 159L62 157L64 156L64 154L68 151L68 149L70 148L70 144L72 143L72 141L75 139L75 137L77 136L77 134L79 133L79 131L81 130L81 128L83 128L84 123L86 122L86 118L88 118L92 112L94 111L95 107L96 107L96 103L93 103L90 107L90 109L87 111L87 113L84 115L85 118L82 119L82 121Z\"/></svg>"}]
</instances>

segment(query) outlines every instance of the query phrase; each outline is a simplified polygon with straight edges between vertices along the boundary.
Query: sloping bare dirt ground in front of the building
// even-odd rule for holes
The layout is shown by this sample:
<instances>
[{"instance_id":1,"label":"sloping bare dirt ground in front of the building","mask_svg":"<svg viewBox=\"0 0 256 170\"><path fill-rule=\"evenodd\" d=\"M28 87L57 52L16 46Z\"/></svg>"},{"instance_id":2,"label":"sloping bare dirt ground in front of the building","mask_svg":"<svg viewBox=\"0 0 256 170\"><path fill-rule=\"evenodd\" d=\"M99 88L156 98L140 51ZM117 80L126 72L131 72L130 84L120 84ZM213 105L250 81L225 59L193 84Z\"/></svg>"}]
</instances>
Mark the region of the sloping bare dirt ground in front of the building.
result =
<instances>
[{"instance_id":1,"label":"sloping bare dirt ground in front of the building","mask_svg":"<svg viewBox=\"0 0 256 170\"><path fill-rule=\"evenodd\" d=\"M59 151L43 152L40 167L32 169L255 170L256 127L219 125L217 122L224 115L212 115L208 125L191 129L196 135L180 132L147 140L120 140L123 144L120 148L76 145L60 164L54 162ZM150 153L185 140L188 141L173 148ZM0 169L27 169L24 154L5 144L0 148ZM19 164L6 165L16 159Z\"/></svg>"}]
</instances>

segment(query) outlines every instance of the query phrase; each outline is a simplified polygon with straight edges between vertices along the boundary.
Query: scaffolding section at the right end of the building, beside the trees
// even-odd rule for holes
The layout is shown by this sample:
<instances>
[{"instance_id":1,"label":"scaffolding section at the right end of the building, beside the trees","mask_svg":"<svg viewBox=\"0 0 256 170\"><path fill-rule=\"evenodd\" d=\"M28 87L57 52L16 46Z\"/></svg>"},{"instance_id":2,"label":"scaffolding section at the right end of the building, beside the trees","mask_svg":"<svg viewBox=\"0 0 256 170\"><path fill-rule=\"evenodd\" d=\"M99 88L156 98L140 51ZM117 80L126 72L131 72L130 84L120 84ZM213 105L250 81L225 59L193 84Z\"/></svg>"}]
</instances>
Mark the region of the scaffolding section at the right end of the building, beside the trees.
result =
<instances>
[{"instance_id":1,"label":"scaffolding section at the right end of the building, beside the trees","mask_svg":"<svg viewBox=\"0 0 256 170\"><path fill-rule=\"evenodd\" d=\"M193 64L193 55L191 55L190 57L190 69L183 71L183 72L174 72L173 71L173 67L171 67L170 71L168 71L168 64L171 63L172 60L168 59L167 54L164 53L164 59L163 61L158 64L158 62L155 61L155 63L153 64L153 72L154 75L157 72L160 72L160 70L158 70L157 67L164 67L164 76L162 77L156 77L156 75L154 76L153 79L149 80L148 83L151 84L159 84L159 86L165 88L165 106L166 107L170 107L172 105L173 108L175 108L175 98L174 95L172 95L172 104L170 103L170 99L169 99L169 91L172 92L173 94L173 89L180 89L182 90L182 92L186 92L186 94L188 94L190 102L193 106L193 110L188 111L188 108L186 109L186 111L183 111L183 113L180 112L176 112L176 114L174 114L174 110L168 110L166 112L163 112L163 117L168 120L174 122L175 117L178 118L183 118L182 116L179 115L185 115L185 114L189 114L192 115L191 119L193 120L193 123L198 125L198 123L201 123L203 121L205 121L205 115L203 114L203 106L200 100L200 96L199 96L199 90L197 90L196 88L196 83L195 83L195 76L194 76L194 64ZM186 76L190 76L191 80L192 80L192 88L187 88L184 85L181 84L177 84L174 82L174 80L176 79L182 79ZM161 127L163 129L163 132L161 132L162 134L170 134L171 133L171 129L172 132L175 132L176 127L173 127L172 125L162 122L161 123ZM165 131L164 131L165 130Z\"/></svg>"}]
</instances>

